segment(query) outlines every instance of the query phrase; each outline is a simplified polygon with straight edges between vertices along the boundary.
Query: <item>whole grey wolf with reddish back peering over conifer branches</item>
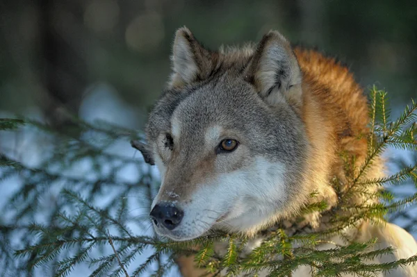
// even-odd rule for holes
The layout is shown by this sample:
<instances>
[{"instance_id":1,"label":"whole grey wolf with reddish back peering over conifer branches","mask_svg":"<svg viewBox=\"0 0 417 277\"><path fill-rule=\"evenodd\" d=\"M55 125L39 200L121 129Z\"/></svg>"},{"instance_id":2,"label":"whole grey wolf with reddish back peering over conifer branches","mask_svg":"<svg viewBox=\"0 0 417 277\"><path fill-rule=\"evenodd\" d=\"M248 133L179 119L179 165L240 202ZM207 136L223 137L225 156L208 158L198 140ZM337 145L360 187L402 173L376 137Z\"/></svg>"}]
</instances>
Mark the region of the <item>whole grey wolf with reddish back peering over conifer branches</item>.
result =
<instances>
[{"instance_id":1,"label":"whole grey wolf with reddish back peering over conifer branches","mask_svg":"<svg viewBox=\"0 0 417 277\"><path fill-rule=\"evenodd\" d=\"M154 230L176 241L211 230L243 233L252 238L253 249L263 239L261 230L277 222L293 224L312 193L331 209L338 202L332 178L341 183L347 178L339 153L354 157L357 167L366 158L367 107L347 67L318 51L293 47L277 31L258 44L211 51L188 28L179 28L170 81L147 121L147 143L135 143L161 172L150 212ZM382 168L377 160L366 177L383 176ZM304 220L307 225L322 230L325 218L313 213ZM375 249L393 246L392 254L371 263L417 254L407 231L367 220L318 248L346 244L345 237L356 242L376 237ZM177 262L183 276L204 272L192 257ZM293 272L310 275L309 267ZM379 276L417 276L417 267Z\"/></svg>"}]
</instances>

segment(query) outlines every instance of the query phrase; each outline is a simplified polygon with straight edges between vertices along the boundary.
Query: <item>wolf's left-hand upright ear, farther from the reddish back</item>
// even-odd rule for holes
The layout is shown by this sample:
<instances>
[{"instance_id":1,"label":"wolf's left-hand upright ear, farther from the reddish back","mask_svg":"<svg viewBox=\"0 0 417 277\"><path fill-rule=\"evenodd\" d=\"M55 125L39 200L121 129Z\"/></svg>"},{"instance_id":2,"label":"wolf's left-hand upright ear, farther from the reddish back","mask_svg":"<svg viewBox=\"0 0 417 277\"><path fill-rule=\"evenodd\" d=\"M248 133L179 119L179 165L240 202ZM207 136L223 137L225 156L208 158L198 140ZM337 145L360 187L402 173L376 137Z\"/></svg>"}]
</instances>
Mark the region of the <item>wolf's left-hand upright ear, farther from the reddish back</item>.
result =
<instances>
[{"instance_id":1,"label":"wolf's left-hand upright ear, farther from the reddish back","mask_svg":"<svg viewBox=\"0 0 417 277\"><path fill-rule=\"evenodd\" d=\"M172 69L170 87L183 87L210 74L215 53L204 49L188 28L179 28L172 47Z\"/></svg>"}]
</instances>

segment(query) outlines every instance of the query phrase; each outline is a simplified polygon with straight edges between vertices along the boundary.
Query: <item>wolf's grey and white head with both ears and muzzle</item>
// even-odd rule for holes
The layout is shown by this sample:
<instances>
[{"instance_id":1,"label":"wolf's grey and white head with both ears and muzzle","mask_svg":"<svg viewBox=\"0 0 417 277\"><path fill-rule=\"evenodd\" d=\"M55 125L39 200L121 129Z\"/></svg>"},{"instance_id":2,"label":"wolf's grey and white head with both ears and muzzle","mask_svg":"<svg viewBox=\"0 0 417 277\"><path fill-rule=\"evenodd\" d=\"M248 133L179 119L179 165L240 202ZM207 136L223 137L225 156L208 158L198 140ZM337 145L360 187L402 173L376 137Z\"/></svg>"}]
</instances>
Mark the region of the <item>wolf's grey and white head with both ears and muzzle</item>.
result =
<instances>
[{"instance_id":1,"label":"wolf's grey and white head with both ears and muzzle","mask_svg":"<svg viewBox=\"0 0 417 277\"><path fill-rule=\"evenodd\" d=\"M141 149L162 177L151 207L156 233L254 233L297 210L309 143L288 41L270 31L256 46L214 52L180 28L172 65Z\"/></svg>"}]
</instances>

